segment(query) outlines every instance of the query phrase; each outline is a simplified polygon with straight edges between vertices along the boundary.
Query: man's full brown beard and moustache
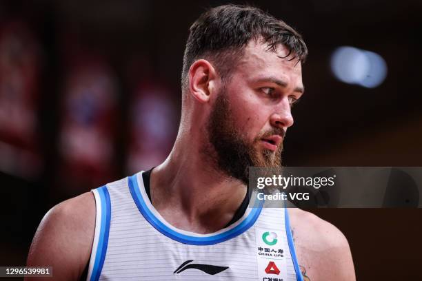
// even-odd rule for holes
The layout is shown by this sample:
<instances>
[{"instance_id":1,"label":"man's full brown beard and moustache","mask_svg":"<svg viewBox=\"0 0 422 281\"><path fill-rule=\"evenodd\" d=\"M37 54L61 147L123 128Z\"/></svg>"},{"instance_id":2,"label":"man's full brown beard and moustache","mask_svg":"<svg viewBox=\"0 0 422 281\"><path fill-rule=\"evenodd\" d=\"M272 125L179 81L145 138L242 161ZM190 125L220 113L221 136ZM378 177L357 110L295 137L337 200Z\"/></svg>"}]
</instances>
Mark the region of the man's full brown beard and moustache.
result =
<instances>
[{"instance_id":1,"label":"man's full brown beard and moustache","mask_svg":"<svg viewBox=\"0 0 422 281\"><path fill-rule=\"evenodd\" d=\"M244 128L247 130L247 128ZM274 134L284 136L281 128L274 128L269 132L262 132L254 138L254 141L247 141L242 128L234 124L234 118L230 110L230 102L222 91L217 96L214 108L210 113L206 126L208 145L212 149L203 149L208 158L217 169L224 174L241 180L245 185L249 182L249 167L281 167L281 152L283 145L279 145L275 152L269 149L259 149L263 138ZM212 151L210 151L212 150Z\"/></svg>"}]
</instances>

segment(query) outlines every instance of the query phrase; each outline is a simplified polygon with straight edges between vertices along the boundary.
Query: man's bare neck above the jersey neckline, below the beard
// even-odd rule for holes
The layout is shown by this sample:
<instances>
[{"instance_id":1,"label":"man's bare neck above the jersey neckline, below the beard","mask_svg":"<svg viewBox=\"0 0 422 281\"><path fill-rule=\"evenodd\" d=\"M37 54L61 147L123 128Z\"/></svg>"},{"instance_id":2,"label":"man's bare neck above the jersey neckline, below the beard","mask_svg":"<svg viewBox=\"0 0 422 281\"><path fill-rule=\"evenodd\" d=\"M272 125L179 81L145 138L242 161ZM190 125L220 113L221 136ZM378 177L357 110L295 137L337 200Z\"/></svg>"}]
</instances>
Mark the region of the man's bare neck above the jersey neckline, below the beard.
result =
<instances>
[{"instance_id":1,"label":"man's bare neck above the jersey neckline, below the beard","mask_svg":"<svg viewBox=\"0 0 422 281\"><path fill-rule=\"evenodd\" d=\"M211 165L201 142L179 135L170 156L151 173L152 205L171 225L212 233L230 222L246 187Z\"/></svg>"}]
</instances>

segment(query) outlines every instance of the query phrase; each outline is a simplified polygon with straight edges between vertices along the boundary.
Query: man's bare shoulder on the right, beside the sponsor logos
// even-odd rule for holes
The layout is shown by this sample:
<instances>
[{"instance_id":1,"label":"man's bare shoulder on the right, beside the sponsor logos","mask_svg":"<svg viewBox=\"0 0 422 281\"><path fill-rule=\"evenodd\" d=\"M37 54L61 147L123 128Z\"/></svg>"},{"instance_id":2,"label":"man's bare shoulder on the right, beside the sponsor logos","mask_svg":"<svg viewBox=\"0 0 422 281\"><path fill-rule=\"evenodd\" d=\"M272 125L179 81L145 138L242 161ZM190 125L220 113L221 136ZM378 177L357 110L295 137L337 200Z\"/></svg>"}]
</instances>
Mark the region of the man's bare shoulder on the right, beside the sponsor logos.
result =
<instances>
[{"instance_id":1,"label":"man's bare shoulder on the right, beside the sponsor logos","mask_svg":"<svg viewBox=\"0 0 422 281\"><path fill-rule=\"evenodd\" d=\"M344 234L308 211L298 208L288 211L299 265L309 280L356 280Z\"/></svg>"}]
</instances>

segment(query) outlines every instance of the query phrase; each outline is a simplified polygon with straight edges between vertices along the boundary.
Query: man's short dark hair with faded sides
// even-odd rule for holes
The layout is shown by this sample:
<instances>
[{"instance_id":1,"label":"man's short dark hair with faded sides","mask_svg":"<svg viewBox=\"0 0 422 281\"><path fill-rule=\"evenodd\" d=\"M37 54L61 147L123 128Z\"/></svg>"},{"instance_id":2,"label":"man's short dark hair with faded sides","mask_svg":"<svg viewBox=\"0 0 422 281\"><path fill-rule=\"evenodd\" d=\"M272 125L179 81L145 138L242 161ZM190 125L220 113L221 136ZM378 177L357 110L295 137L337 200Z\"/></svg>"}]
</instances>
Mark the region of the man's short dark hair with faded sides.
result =
<instances>
[{"instance_id":1,"label":"man's short dark hair with faded sides","mask_svg":"<svg viewBox=\"0 0 422 281\"><path fill-rule=\"evenodd\" d=\"M183 56L182 90L187 87L190 65L198 59L211 59L222 79L230 76L230 70L243 54L245 45L262 38L268 50L275 52L283 44L301 63L305 62L308 48L301 34L284 21L259 8L241 5L225 5L207 10L190 27Z\"/></svg>"}]
</instances>

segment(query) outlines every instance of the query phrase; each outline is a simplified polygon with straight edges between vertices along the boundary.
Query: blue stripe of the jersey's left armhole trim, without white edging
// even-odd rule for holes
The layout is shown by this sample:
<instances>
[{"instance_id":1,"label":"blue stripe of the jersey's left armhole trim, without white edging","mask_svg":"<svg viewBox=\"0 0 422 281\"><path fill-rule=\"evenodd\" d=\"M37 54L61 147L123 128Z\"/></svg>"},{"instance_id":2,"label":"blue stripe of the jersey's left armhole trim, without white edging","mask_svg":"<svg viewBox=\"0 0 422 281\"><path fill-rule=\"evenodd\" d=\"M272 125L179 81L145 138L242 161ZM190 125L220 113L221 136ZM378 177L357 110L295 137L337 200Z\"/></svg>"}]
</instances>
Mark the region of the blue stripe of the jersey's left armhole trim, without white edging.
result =
<instances>
[{"instance_id":1,"label":"blue stripe of the jersey's left armhole trim, without white edging","mask_svg":"<svg viewBox=\"0 0 422 281\"><path fill-rule=\"evenodd\" d=\"M111 218L110 194L108 194L107 187L104 185L103 187L99 187L97 191L101 200L101 227L91 281L99 280L101 270L103 269L104 260L106 259L108 232L110 231Z\"/></svg>"}]
</instances>

